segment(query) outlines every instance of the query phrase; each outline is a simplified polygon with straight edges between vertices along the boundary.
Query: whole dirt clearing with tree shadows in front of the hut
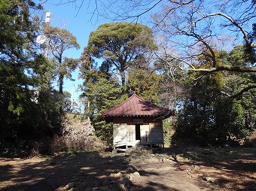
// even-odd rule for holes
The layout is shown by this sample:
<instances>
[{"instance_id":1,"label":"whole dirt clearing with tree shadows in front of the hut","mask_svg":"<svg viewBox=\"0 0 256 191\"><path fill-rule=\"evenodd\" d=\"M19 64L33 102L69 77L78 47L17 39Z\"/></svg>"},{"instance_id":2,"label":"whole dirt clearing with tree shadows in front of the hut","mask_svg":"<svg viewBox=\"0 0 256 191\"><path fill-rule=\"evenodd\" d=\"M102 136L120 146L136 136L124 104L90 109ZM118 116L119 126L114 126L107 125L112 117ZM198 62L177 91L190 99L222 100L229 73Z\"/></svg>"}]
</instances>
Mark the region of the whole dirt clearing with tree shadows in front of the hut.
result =
<instances>
[{"instance_id":1,"label":"whole dirt clearing with tree shadows in front of the hut","mask_svg":"<svg viewBox=\"0 0 256 191\"><path fill-rule=\"evenodd\" d=\"M137 173L126 187L113 187ZM139 175L138 175L139 174ZM0 158L0 190L256 190L256 147Z\"/></svg>"}]
</instances>

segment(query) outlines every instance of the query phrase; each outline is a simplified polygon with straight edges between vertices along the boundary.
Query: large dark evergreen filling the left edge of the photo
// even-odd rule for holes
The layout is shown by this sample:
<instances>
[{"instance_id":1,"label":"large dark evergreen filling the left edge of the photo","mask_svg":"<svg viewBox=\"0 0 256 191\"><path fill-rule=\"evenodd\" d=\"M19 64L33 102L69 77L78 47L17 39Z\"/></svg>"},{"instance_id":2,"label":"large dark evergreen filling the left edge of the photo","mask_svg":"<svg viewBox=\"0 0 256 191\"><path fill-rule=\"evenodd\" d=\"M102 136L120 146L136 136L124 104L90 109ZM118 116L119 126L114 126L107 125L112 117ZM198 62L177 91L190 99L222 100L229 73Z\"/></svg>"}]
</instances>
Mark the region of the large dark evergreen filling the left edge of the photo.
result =
<instances>
[{"instance_id":1,"label":"large dark evergreen filling the left edge of the photo","mask_svg":"<svg viewBox=\"0 0 256 191\"><path fill-rule=\"evenodd\" d=\"M0 3L1 147L23 147L24 141L50 134L49 119L44 118L45 102L39 100L50 68L47 59L37 54L38 19L29 12L35 9L41 7L30 0Z\"/></svg>"}]
</instances>

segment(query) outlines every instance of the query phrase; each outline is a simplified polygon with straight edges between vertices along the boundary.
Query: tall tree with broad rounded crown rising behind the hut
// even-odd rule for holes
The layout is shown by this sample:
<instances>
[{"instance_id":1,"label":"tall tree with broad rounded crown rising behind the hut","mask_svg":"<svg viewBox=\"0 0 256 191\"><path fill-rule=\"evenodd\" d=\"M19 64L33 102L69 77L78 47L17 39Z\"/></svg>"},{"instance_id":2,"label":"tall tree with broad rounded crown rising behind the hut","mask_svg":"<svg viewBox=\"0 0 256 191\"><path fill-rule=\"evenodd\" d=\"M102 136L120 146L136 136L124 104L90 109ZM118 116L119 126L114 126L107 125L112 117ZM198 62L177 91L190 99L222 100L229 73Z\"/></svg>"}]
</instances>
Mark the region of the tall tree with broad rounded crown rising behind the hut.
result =
<instances>
[{"instance_id":1,"label":"tall tree with broad rounded crown rising behind the hut","mask_svg":"<svg viewBox=\"0 0 256 191\"><path fill-rule=\"evenodd\" d=\"M140 23L105 23L90 33L84 51L114 67L125 85L125 71L136 56L156 50L151 29Z\"/></svg>"}]
</instances>

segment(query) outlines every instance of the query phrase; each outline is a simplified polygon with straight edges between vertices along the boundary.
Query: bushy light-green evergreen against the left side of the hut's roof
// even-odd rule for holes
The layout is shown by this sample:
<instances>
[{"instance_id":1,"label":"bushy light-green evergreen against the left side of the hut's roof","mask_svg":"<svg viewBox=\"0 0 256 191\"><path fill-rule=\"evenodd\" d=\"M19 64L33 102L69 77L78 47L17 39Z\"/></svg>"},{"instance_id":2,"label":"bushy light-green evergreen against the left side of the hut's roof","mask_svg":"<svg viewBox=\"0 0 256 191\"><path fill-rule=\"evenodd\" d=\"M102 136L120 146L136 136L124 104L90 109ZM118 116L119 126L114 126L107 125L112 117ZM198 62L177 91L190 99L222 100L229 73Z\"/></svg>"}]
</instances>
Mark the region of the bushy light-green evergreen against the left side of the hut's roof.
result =
<instances>
[{"instance_id":1,"label":"bushy light-green evergreen against the left side of the hut's roof","mask_svg":"<svg viewBox=\"0 0 256 191\"><path fill-rule=\"evenodd\" d=\"M90 102L87 111L89 111L96 135L111 142L112 124L105 123L102 112L123 101L124 97L122 97L122 89L118 80L94 69L90 73L90 80L87 80L84 94L87 102Z\"/></svg>"}]
</instances>

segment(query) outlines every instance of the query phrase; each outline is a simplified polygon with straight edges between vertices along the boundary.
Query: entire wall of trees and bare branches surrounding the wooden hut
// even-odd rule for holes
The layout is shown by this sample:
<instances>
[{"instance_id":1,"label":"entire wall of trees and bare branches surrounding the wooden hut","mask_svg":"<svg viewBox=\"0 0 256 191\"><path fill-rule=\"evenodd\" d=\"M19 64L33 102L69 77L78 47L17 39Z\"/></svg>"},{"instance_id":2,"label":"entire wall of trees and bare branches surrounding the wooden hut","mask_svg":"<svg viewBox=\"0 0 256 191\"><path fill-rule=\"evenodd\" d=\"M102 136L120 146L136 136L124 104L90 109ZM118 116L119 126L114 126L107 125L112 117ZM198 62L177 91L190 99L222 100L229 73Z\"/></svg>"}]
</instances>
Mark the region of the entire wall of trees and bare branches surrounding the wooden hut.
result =
<instances>
[{"instance_id":1,"label":"entire wall of trees and bare branches surrounding the wooden hut","mask_svg":"<svg viewBox=\"0 0 256 191\"><path fill-rule=\"evenodd\" d=\"M154 8L144 5L142 13ZM78 147L89 135L111 143L111 123L102 112L131 91L175 111L164 121L170 144L241 144L256 126L255 6L254 0L166 2L152 14L154 27L136 22L142 14L121 9L126 18L100 25L81 59L72 59L63 53L79 47L75 36L35 15L41 5L2 0L0 150L36 146L39 153L50 152L56 139L66 138L63 122L71 115L81 123L75 134L69 132L80 137ZM38 35L47 40L38 43ZM64 79L78 69L84 80L82 112L72 110L71 94L63 91ZM59 88L53 89L56 82ZM88 119L93 130L83 123Z\"/></svg>"}]
</instances>

